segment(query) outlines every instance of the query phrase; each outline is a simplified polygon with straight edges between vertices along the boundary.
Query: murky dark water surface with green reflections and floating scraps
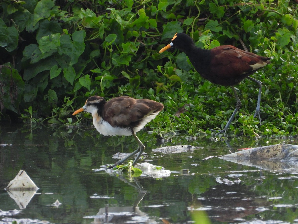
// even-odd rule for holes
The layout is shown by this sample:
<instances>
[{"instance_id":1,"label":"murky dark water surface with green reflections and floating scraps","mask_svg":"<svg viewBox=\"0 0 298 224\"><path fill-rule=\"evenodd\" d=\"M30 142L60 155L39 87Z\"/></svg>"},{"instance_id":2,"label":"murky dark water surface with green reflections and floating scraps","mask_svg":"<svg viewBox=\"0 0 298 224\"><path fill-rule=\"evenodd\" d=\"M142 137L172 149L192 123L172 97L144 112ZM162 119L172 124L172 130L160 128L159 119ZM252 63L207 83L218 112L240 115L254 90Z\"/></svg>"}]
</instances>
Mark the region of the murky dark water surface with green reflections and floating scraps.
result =
<instances>
[{"instance_id":1,"label":"murky dark water surface with green reflections and floating scraps","mask_svg":"<svg viewBox=\"0 0 298 224\"><path fill-rule=\"evenodd\" d=\"M156 179L101 170L117 161L117 152L136 149L132 136L5 123L0 134L0 223L298 223L295 166L262 170L218 158L238 148L298 144L297 139L222 142L211 136L176 135L161 145L155 135L141 131L137 135L146 146L143 158L172 171L170 177ZM152 150L173 145L200 148ZM20 204L4 188L21 169L40 189ZM182 169L190 173L181 174ZM60 205L54 205L57 199Z\"/></svg>"}]
</instances>

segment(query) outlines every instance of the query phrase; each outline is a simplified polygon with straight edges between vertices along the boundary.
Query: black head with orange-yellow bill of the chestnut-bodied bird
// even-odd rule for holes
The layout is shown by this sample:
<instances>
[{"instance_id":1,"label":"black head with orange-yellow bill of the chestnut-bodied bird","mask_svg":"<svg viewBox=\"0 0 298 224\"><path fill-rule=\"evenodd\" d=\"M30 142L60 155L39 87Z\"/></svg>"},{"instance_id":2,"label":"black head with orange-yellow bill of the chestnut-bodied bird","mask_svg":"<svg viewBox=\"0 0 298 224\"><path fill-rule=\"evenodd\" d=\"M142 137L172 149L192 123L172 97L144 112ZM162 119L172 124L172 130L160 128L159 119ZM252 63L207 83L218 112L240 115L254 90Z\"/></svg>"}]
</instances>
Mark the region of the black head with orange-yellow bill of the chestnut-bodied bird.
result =
<instances>
[{"instance_id":1,"label":"black head with orange-yellow bill of the chestnut-bodied bird","mask_svg":"<svg viewBox=\"0 0 298 224\"><path fill-rule=\"evenodd\" d=\"M176 33L172 38L172 42L162 48L159 53L164 52L165 50L169 49L170 47L177 48L181 51L188 51L195 46L193 39L185 33Z\"/></svg>"}]
</instances>

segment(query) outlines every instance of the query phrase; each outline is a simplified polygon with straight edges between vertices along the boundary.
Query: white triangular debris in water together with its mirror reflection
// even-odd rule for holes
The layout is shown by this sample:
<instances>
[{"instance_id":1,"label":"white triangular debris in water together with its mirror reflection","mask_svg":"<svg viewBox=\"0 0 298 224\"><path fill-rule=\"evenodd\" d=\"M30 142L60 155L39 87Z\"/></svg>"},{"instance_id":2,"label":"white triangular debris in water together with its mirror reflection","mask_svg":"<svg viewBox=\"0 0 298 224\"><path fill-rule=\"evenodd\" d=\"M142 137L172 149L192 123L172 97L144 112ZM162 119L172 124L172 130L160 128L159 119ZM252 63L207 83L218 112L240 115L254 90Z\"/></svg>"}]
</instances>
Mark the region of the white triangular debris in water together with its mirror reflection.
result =
<instances>
[{"instance_id":1,"label":"white triangular debris in water together with its mirror reflection","mask_svg":"<svg viewBox=\"0 0 298 224\"><path fill-rule=\"evenodd\" d=\"M20 170L15 179L10 181L4 190L15 200L20 209L24 209L38 189L26 172Z\"/></svg>"}]
</instances>

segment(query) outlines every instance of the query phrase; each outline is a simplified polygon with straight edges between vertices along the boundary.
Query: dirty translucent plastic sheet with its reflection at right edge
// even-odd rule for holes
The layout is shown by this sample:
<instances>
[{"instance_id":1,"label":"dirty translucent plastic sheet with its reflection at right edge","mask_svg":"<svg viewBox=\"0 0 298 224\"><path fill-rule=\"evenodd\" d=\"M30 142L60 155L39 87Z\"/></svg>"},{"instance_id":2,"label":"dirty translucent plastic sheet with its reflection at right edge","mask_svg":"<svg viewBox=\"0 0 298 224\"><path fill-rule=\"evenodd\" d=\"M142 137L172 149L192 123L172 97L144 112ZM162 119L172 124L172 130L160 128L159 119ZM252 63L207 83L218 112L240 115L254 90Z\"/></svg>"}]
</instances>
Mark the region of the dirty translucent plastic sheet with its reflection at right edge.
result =
<instances>
[{"instance_id":1,"label":"dirty translucent plastic sheet with its reflection at right edge","mask_svg":"<svg viewBox=\"0 0 298 224\"><path fill-rule=\"evenodd\" d=\"M266 170L285 170L298 165L298 145L277 144L228 154L221 159ZM291 169L292 172L298 170Z\"/></svg>"}]
</instances>

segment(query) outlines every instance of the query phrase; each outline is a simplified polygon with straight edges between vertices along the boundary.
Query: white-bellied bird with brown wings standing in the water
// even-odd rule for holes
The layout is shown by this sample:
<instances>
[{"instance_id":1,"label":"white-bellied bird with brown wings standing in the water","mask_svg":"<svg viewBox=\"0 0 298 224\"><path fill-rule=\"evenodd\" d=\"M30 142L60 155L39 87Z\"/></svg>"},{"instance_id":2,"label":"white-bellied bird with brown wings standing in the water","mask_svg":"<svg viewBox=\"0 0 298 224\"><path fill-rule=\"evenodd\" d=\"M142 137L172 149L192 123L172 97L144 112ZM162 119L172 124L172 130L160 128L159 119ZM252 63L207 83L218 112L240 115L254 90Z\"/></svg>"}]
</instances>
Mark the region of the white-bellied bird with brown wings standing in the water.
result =
<instances>
[{"instance_id":1,"label":"white-bellied bird with brown wings standing in the water","mask_svg":"<svg viewBox=\"0 0 298 224\"><path fill-rule=\"evenodd\" d=\"M82 111L91 113L94 127L104 136L134 136L139 147L125 158L108 167L113 168L139 152L132 163L133 166L136 164L145 146L135 133L144 128L163 108L164 105L162 103L150 99L134 99L129 96L119 96L105 101L101 96L90 96L86 100L85 105L72 115Z\"/></svg>"}]
</instances>

